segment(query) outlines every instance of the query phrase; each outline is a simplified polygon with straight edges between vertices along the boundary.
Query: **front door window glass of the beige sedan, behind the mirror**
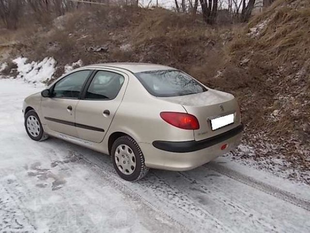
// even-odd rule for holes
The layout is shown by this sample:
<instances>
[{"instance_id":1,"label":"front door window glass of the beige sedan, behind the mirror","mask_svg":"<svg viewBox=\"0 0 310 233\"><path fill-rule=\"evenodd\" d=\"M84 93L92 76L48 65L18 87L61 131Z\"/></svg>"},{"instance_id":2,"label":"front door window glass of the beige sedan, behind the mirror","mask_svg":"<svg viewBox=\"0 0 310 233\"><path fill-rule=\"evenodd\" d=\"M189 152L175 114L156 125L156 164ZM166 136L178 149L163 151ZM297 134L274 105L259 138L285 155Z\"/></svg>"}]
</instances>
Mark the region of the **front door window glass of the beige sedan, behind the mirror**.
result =
<instances>
[{"instance_id":1,"label":"front door window glass of the beige sedan, behind the mirror","mask_svg":"<svg viewBox=\"0 0 310 233\"><path fill-rule=\"evenodd\" d=\"M90 72L90 70L81 70L61 79L54 86L53 97L78 99L78 95Z\"/></svg>"}]
</instances>

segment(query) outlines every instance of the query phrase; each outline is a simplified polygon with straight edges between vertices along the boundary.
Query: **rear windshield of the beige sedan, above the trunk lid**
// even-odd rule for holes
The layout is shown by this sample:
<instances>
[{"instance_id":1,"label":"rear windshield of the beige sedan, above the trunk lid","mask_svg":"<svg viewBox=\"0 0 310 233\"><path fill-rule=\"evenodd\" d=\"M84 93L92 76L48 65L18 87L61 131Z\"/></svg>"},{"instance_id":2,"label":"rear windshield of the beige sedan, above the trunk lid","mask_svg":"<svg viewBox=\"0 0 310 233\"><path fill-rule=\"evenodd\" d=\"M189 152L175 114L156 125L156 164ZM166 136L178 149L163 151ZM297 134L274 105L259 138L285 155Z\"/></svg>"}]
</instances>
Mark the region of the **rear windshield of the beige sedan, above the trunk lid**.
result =
<instances>
[{"instance_id":1,"label":"rear windshield of the beige sedan, above the trunk lid","mask_svg":"<svg viewBox=\"0 0 310 233\"><path fill-rule=\"evenodd\" d=\"M135 75L145 89L157 97L185 96L207 91L204 86L180 70L153 70Z\"/></svg>"}]
</instances>

